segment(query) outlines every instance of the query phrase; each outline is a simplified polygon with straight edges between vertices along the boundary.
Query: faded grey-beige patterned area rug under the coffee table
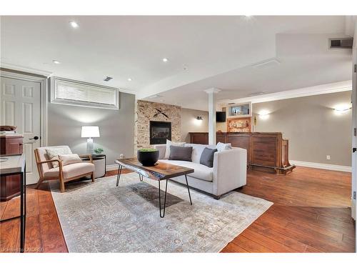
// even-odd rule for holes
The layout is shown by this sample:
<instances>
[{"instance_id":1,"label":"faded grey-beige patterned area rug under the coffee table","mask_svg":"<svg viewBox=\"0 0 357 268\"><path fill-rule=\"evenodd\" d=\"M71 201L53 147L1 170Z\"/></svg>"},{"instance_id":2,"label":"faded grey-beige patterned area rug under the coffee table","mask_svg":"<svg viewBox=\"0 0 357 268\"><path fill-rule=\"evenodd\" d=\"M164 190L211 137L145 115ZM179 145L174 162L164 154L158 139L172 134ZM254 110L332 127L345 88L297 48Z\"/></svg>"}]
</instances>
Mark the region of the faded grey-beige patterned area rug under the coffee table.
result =
<instances>
[{"instance_id":1,"label":"faded grey-beige patterned area rug under the coffee table","mask_svg":"<svg viewBox=\"0 0 357 268\"><path fill-rule=\"evenodd\" d=\"M191 190L191 206L187 188L169 182L160 218L157 184L135 173L122 174L119 187L115 176L66 184L62 194L51 184L69 252L219 252L273 204L238 192L216 200Z\"/></svg>"}]
</instances>

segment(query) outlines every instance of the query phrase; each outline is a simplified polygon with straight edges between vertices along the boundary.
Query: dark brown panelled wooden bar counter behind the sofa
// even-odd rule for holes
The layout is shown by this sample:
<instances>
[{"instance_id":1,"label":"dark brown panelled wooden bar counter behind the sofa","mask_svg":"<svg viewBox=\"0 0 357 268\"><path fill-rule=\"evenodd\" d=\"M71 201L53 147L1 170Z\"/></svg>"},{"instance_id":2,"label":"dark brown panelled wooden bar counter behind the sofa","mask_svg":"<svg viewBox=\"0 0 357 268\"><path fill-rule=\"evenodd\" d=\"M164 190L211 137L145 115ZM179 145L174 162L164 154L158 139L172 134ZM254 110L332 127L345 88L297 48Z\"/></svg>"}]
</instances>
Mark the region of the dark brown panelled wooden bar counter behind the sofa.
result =
<instances>
[{"instance_id":1,"label":"dark brown panelled wooden bar counter behind the sofa","mask_svg":"<svg viewBox=\"0 0 357 268\"><path fill-rule=\"evenodd\" d=\"M208 144L207 132L189 134L192 144ZM249 167L274 169L278 174L295 168L288 161L288 139L283 139L281 132L217 132L216 142L246 149Z\"/></svg>"}]
</instances>

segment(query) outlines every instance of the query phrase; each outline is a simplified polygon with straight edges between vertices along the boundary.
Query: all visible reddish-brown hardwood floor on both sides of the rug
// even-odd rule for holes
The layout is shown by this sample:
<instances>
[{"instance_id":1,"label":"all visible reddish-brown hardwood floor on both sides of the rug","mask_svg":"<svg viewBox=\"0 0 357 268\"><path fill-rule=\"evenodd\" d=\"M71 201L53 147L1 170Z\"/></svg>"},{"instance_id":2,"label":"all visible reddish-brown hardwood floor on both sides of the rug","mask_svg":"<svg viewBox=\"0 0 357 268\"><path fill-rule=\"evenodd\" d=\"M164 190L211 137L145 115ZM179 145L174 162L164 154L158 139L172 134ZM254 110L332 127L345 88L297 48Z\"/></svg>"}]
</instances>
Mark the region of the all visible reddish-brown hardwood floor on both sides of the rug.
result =
<instances>
[{"instance_id":1,"label":"all visible reddish-brown hardwood floor on both sides of the rug","mask_svg":"<svg viewBox=\"0 0 357 268\"><path fill-rule=\"evenodd\" d=\"M222 252L355 252L350 173L297 167L281 176L253 170L247 182L238 192L274 204ZM67 252L49 185L27 192L26 251ZM0 205L1 219L19 213L19 198ZM19 220L0 224L0 252L18 248Z\"/></svg>"}]
</instances>

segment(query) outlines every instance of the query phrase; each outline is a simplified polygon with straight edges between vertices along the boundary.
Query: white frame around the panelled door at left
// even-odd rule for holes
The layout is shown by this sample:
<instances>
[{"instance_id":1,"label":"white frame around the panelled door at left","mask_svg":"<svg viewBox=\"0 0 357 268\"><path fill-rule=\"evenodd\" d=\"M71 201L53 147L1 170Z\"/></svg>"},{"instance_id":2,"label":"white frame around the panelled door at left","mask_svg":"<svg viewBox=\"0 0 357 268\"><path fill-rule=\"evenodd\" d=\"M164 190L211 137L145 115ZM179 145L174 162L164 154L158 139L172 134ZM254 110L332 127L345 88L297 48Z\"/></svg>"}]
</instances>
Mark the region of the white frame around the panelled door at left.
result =
<instances>
[{"instance_id":1,"label":"white frame around the panelled door at left","mask_svg":"<svg viewBox=\"0 0 357 268\"><path fill-rule=\"evenodd\" d=\"M0 76L9 79L19 79L40 83L40 145L47 146L48 133L48 99L49 99L49 76L31 74L24 71L0 68Z\"/></svg>"}]
</instances>

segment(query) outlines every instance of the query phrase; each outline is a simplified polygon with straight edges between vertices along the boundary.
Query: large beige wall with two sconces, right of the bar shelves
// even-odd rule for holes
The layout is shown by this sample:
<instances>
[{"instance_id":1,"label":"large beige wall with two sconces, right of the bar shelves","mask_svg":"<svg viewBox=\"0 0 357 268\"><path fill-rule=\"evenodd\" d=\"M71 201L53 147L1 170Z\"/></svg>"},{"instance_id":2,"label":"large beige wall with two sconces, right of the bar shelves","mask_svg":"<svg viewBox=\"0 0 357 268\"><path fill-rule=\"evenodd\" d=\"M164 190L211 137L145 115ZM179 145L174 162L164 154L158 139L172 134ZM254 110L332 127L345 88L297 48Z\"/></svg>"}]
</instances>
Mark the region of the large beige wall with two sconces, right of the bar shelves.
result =
<instances>
[{"instance_id":1,"label":"large beige wall with two sconces, right of the bar shelves","mask_svg":"<svg viewBox=\"0 0 357 268\"><path fill-rule=\"evenodd\" d=\"M349 103L351 91L253 104L255 131L283 132L289 159L351 167L352 112L337 115L333 110ZM271 112L266 119L257 114L263 109Z\"/></svg>"}]
</instances>

